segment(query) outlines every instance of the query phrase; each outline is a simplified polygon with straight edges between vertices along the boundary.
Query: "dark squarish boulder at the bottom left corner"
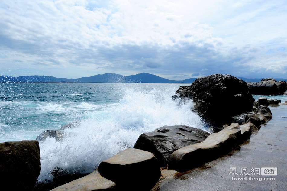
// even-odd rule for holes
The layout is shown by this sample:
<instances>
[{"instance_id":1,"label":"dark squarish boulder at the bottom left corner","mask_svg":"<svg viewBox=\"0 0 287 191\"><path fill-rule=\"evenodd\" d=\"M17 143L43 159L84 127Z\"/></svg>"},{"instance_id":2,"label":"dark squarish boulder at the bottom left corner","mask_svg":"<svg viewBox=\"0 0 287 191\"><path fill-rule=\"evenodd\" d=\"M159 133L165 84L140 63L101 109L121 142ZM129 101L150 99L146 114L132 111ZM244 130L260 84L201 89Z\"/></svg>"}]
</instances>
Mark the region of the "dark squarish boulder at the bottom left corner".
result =
<instances>
[{"instance_id":1,"label":"dark squarish boulder at the bottom left corner","mask_svg":"<svg viewBox=\"0 0 287 191\"><path fill-rule=\"evenodd\" d=\"M0 184L3 190L33 190L40 171L38 141L0 143Z\"/></svg>"}]
</instances>

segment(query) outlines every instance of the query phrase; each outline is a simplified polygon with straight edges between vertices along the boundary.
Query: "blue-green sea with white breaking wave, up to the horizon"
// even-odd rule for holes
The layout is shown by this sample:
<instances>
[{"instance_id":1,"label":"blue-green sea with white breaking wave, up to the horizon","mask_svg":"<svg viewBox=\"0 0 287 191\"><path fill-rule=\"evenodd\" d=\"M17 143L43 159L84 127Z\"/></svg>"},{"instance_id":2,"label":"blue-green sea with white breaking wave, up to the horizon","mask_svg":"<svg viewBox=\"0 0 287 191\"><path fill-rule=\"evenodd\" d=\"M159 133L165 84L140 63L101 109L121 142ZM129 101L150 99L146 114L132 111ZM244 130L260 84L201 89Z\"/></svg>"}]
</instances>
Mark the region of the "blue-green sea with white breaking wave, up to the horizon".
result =
<instances>
[{"instance_id":1,"label":"blue-green sea with white breaking wave, up to the horizon","mask_svg":"<svg viewBox=\"0 0 287 191\"><path fill-rule=\"evenodd\" d=\"M143 132L164 125L208 131L192 112L192 100L172 99L181 85L189 84L0 83L0 142L35 140L77 121L64 130L63 140L39 141L38 180L52 180L55 167L90 173L102 160L133 147ZM286 95L266 97L287 100Z\"/></svg>"}]
</instances>

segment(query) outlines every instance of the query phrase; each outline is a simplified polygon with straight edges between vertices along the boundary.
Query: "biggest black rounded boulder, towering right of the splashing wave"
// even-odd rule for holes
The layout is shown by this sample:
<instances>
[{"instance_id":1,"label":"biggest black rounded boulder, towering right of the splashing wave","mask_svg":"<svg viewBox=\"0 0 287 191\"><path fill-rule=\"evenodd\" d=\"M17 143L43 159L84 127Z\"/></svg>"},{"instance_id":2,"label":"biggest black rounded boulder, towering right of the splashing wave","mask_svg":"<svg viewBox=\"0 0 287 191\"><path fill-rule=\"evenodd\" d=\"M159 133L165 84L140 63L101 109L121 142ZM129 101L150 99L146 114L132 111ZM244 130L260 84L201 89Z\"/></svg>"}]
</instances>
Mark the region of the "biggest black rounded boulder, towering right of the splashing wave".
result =
<instances>
[{"instance_id":1,"label":"biggest black rounded boulder, towering right of the splashing wave","mask_svg":"<svg viewBox=\"0 0 287 191\"><path fill-rule=\"evenodd\" d=\"M207 123L215 126L228 123L233 116L252 111L255 101L246 82L223 74L199 78L190 86L181 86L176 94L180 98L193 99L194 110Z\"/></svg>"}]
</instances>

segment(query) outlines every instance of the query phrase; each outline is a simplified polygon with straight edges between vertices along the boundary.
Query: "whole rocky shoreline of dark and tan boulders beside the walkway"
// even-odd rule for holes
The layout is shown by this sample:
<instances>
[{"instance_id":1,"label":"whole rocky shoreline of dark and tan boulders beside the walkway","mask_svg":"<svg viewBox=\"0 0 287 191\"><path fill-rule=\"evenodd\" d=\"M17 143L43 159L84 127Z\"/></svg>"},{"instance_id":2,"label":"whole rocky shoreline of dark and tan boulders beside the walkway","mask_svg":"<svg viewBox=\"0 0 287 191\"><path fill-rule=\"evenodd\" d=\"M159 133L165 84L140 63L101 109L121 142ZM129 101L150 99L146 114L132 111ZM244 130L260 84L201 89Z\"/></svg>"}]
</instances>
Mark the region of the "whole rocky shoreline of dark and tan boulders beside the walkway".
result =
<instances>
[{"instance_id":1,"label":"whole rocky shoreline of dark and tan boulders beside the walkway","mask_svg":"<svg viewBox=\"0 0 287 191\"><path fill-rule=\"evenodd\" d=\"M274 86L274 82L269 81L274 80L264 79L260 83L265 84L266 92L271 91L266 84ZM274 86L274 93L286 91L286 82L275 84L277 92ZM278 105L281 101L264 97L255 101L251 92L259 86L263 91L261 85L248 84L222 74L199 78L191 86L180 86L173 99L183 102L193 99L192 109L210 127L211 134L185 125L163 126L141 134L133 148L102 161L94 172L86 176L68 175L68 178L46 187L38 184L35 190L156 190L169 176L176 176L228 153L249 139L252 131L258 131L261 124L272 119L268 105ZM12 190L33 190L40 174L38 141L47 137L60 141L67 135L63 130L76 124L65 125L56 131L47 130L37 137L37 141L0 143L0 159L5 161L0 165L1 174L5 175L0 179L2 185ZM63 172L59 170L55 178L56 175L63 176Z\"/></svg>"}]
</instances>

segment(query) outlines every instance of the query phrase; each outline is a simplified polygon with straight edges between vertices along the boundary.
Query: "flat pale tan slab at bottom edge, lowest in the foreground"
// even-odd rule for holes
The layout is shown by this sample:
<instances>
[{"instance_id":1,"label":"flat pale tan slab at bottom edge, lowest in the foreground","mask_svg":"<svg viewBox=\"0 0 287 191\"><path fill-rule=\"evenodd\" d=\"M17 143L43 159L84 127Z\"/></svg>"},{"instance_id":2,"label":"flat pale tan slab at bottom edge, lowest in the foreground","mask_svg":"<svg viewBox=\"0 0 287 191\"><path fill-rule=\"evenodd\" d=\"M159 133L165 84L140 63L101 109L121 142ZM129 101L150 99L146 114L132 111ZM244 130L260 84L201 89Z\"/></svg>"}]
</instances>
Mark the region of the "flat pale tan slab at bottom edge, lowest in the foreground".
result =
<instances>
[{"instance_id":1,"label":"flat pale tan slab at bottom edge, lowest in the foreground","mask_svg":"<svg viewBox=\"0 0 287 191\"><path fill-rule=\"evenodd\" d=\"M116 183L101 176L98 170L82 178L73 180L52 191L109 191L115 190Z\"/></svg>"}]
</instances>

